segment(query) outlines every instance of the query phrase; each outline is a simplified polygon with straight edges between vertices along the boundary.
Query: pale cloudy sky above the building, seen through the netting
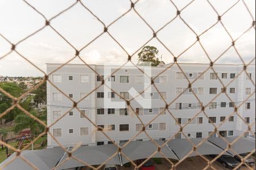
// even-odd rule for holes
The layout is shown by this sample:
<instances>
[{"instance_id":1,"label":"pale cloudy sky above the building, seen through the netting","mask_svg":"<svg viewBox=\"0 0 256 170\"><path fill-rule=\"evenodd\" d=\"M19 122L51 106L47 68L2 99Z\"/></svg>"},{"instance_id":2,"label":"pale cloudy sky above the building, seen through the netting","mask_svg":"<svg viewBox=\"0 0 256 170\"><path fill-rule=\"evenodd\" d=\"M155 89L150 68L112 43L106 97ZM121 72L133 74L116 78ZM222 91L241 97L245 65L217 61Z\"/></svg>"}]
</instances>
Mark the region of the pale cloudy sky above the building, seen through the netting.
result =
<instances>
[{"instance_id":1,"label":"pale cloudy sky above the building, seen through the netting","mask_svg":"<svg viewBox=\"0 0 256 170\"><path fill-rule=\"evenodd\" d=\"M50 19L76 1L27 0L27 2L42 12L47 19ZM82 2L106 25L112 23L113 20L130 8L129 0L86 0ZM179 9L189 2L188 0L174 1ZM210 2L221 15L237 1L211 0ZM255 1L245 0L245 2L255 18ZM176 16L176 9L170 0L140 0L135 5L135 9L155 31L162 28L163 25ZM181 12L181 17L198 34L217 21L217 14L206 0L195 0ZM234 39L249 28L252 21L253 19L242 1L222 17L222 22ZM0 34L14 44L43 27L44 24L44 18L22 0L0 0ZM80 3L53 19L51 25L77 49L81 49L88 44L100 35L104 29L104 26ZM133 10L111 25L109 32L129 54L136 52L152 37L151 29ZM193 32L179 18L164 27L158 33L158 38L175 56L183 52L196 40ZM217 58L232 42L220 23L201 36L200 40L212 59ZM156 46L159 49L158 57L163 56L164 62L172 62L171 54L158 40L153 39L147 45ZM245 62L251 61L255 57L255 29L251 29L242 36L236 42L236 46ZM10 48L10 44L0 36L0 57L9 52ZM49 27L20 43L16 50L44 71L46 71L46 63L63 63L75 54L74 49ZM82 50L81 57L88 63L97 64L109 61L125 62L127 54L105 33ZM133 61L137 61L136 54ZM209 63L209 59L199 44L182 54L179 61ZM81 63L79 59L72 62ZM241 63L241 60L234 49L230 49L217 62ZM0 75L38 76L43 74L13 52L9 56L0 59Z\"/></svg>"}]
</instances>

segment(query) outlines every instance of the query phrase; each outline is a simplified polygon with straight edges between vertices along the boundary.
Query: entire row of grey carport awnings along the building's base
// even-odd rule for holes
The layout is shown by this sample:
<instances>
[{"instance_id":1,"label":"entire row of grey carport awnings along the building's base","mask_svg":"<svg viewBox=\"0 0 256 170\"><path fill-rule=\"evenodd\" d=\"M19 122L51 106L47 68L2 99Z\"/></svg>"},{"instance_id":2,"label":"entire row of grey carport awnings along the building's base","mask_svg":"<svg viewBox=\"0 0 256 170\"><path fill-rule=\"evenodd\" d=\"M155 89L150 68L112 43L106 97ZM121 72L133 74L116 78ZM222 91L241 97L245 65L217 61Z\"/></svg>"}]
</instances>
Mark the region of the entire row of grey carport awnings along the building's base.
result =
<instances>
[{"instance_id":1,"label":"entire row of grey carport awnings along the building's base","mask_svg":"<svg viewBox=\"0 0 256 170\"><path fill-rule=\"evenodd\" d=\"M237 137L226 137L226 140L231 143ZM191 139L191 141L198 145L202 139ZM155 140L159 146L163 145L163 141ZM124 144L123 144L124 145ZM204 142L202 145L197 147L197 151L201 155L211 155L211 154L220 154L225 148L228 147L228 144L223 141L222 138L209 138L209 141ZM232 145L234 151L237 154L242 154L246 152L251 152L255 149L255 142L250 141L246 138L240 138L234 145ZM170 159L183 159L191 150L193 146L187 139L173 139L168 142L168 147L164 146L161 151L167 158ZM152 141L133 141L130 142L126 147L122 149L122 152L128 156L131 160L148 158L151 156L158 148ZM175 153L174 153L175 152ZM235 153L228 150L232 155ZM225 153L228 155L229 153ZM112 155L116 154L112 159L110 159L106 164L125 164L129 162L122 156L122 162L119 159L118 147L115 145L102 145L102 146L81 146L76 151L73 152L73 156L80 159L82 162L86 162L90 165L100 165L105 163ZM176 155L177 157L176 157ZM21 155L24 156L29 162L36 165L38 169L52 169L56 164L61 164L67 158L67 154L64 153L62 148L52 148L44 150L34 150L34 151L22 151ZM196 152L192 152L189 156L197 155ZM0 168L3 165L9 163L16 154L11 155L8 159L0 164ZM188 156L188 157L189 157ZM163 158L164 156L155 154L152 158ZM67 162L63 163L58 169L68 169L85 166L84 164L77 162L77 160L71 158ZM32 169L30 165L24 162L19 157L16 158L13 162L9 163L3 169Z\"/></svg>"}]
</instances>

